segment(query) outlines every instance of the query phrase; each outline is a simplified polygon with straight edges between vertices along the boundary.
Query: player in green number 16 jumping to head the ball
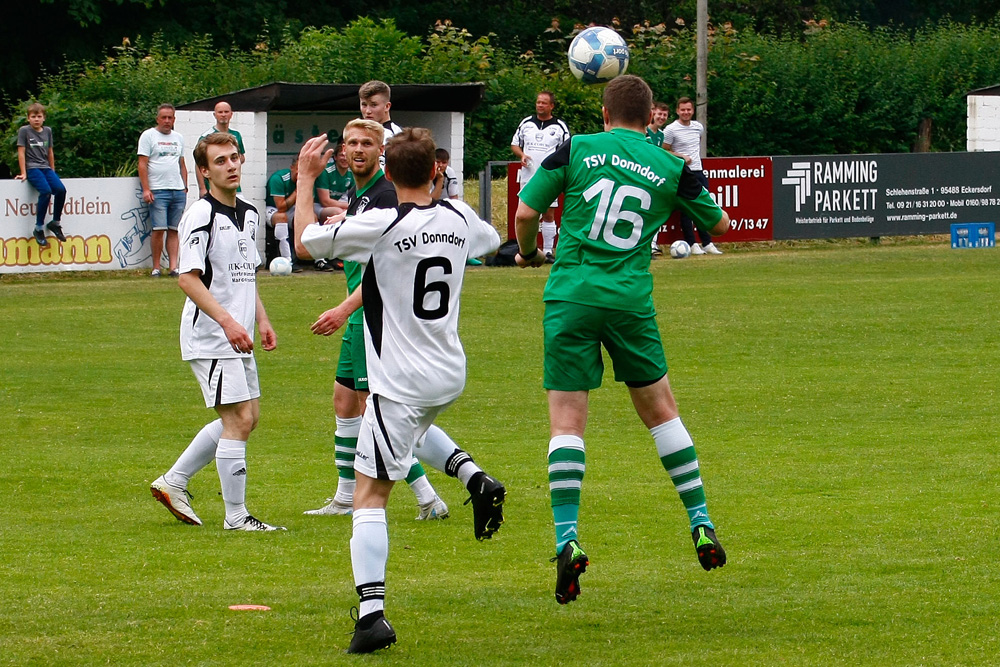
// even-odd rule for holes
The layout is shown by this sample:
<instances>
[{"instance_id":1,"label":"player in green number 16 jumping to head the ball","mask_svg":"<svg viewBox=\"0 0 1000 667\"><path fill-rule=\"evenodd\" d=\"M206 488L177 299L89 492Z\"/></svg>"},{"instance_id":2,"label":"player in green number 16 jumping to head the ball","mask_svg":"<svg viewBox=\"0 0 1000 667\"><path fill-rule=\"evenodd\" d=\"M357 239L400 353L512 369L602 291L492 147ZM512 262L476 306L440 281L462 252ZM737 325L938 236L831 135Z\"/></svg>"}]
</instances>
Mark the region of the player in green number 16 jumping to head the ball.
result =
<instances>
[{"instance_id":1,"label":"player in green number 16 jumping to head the ball","mask_svg":"<svg viewBox=\"0 0 1000 667\"><path fill-rule=\"evenodd\" d=\"M681 209L714 235L729 216L685 167L646 140L652 92L636 76L604 90L605 131L576 135L542 162L520 192L516 228L519 266L544 261L538 218L566 194L560 252L545 287L545 388L548 390L549 493L556 530L556 600L580 594L589 565L577 540L585 470L583 432L589 391L601 385L601 346L624 382L687 510L698 560L706 570L726 563L708 516L694 443L681 423L667 379L653 308L649 244L661 221Z\"/></svg>"}]
</instances>

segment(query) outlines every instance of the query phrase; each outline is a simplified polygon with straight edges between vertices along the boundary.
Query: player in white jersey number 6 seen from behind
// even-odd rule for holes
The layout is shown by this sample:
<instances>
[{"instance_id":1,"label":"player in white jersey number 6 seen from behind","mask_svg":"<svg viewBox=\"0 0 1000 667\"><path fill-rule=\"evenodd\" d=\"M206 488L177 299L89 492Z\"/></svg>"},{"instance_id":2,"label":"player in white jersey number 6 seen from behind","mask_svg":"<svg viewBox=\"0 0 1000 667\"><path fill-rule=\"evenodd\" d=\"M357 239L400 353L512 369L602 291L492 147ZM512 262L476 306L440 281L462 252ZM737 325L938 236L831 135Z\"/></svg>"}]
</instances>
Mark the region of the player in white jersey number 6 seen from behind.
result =
<instances>
[{"instance_id":1,"label":"player in white jersey number 6 seen from behind","mask_svg":"<svg viewBox=\"0 0 1000 667\"><path fill-rule=\"evenodd\" d=\"M329 158L324 146L322 138L306 143L300 173L318 174ZM336 224L310 225L296 238L300 255L333 252L366 264L362 296L371 394L355 460L351 562L360 609L349 653L369 653L396 641L383 613L389 555L385 508L393 484L406 476L413 448L465 386L458 337L465 262L500 245L496 230L464 203L432 201L434 148L422 128L404 130L386 147L386 176L396 187L397 210L374 209Z\"/></svg>"}]
</instances>

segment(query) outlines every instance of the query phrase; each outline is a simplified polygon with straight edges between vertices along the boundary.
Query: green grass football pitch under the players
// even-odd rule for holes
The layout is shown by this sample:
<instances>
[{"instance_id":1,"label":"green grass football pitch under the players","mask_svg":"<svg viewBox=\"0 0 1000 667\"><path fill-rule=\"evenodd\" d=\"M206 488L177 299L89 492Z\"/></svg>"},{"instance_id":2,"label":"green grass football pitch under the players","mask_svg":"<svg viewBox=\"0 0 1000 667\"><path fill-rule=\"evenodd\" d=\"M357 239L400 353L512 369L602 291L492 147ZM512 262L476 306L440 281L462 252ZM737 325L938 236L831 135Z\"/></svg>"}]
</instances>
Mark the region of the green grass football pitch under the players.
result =
<instances>
[{"instance_id":1,"label":"green grass football pitch under the players","mask_svg":"<svg viewBox=\"0 0 1000 667\"><path fill-rule=\"evenodd\" d=\"M452 510L389 508L393 648L347 656L356 604L335 484L339 338L308 325L342 275L262 275L278 349L248 506L284 534L224 534L149 483L214 413L180 361L173 281L0 278L0 662L73 665L976 665L1000 652L995 251L942 244L730 251L654 262L671 381L729 553L697 564L680 501L610 377L591 396L580 599L553 598L541 389L547 269L477 269L465 395L439 420L508 489L476 542ZM272 611L234 612L256 603ZM993 657L991 657L993 656Z\"/></svg>"}]
</instances>

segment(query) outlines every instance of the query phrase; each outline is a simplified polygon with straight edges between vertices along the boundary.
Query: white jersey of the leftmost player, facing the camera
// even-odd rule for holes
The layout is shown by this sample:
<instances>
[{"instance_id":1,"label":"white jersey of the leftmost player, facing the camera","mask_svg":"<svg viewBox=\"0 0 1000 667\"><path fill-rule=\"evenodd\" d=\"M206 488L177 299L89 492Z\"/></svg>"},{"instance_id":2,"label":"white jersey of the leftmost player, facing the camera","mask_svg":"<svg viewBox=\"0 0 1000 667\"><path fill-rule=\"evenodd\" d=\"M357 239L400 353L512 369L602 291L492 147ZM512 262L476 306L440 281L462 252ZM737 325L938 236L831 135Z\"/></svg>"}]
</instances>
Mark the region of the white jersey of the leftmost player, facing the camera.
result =
<instances>
[{"instance_id":1,"label":"white jersey of the leftmost player, facing the camera","mask_svg":"<svg viewBox=\"0 0 1000 667\"><path fill-rule=\"evenodd\" d=\"M215 300L253 336L257 316L257 225L260 214L236 198L230 208L206 195L184 213L177 230L181 273L197 269ZM219 323L188 298L181 314L181 358L248 357L233 349Z\"/></svg>"}]
</instances>

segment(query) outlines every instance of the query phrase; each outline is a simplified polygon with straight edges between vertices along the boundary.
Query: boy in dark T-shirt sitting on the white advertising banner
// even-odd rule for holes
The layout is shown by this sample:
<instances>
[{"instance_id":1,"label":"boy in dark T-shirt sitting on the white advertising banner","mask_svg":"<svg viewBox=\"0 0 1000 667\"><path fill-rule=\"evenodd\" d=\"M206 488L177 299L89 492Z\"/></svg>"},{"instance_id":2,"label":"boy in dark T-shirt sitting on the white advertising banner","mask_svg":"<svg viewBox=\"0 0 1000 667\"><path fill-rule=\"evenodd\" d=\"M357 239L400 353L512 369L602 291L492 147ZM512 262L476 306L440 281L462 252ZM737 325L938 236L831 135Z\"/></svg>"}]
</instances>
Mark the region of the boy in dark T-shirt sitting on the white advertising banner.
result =
<instances>
[{"instance_id":1,"label":"boy in dark T-shirt sitting on the white advertising banner","mask_svg":"<svg viewBox=\"0 0 1000 667\"><path fill-rule=\"evenodd\" d=\"M45 214L49 201L55 196L52 221L48 229L60 241L66 240L62 231L62 209L66 203L66 186L56 173L56 156L52 148L52 128L45 124L45 107L35 102L28 107L28 124L17 131L17 163L21 173L14 178L27 181L38 190L38 208L35 212L33 235L39 247L49 244L45 238Z\"/></svg>"}]
</instances>

